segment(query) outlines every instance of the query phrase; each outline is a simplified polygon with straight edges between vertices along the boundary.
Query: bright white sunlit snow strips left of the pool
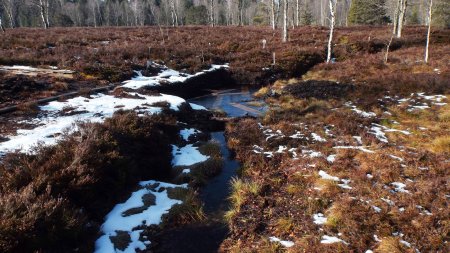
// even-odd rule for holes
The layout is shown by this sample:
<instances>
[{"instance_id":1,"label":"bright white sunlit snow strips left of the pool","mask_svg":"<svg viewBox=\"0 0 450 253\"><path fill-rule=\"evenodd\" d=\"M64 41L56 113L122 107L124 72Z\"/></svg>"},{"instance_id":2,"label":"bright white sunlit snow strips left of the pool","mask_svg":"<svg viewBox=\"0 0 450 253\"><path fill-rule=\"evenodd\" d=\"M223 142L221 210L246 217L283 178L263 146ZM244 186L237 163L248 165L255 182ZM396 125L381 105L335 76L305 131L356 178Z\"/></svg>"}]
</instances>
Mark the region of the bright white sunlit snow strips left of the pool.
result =
<instances>
[{"instance_id":1,"label":"bright white sunlit snow strips left of the pool","mask_svg":"<svg viewBox=\"0 0 450 253\"><path fill-rule=\"evenodd\" d=\"M194 75L182 74L175 70L165 69L154 77L138 76L132 80L125 81L122 87L137 89L150 83L159 82L160 80L184 82L191 77L226 67L228 65L212 65L210 69ZM33 70L34 68L14 66L11 69ZM16 135L5 136L8 140L0 142L0 155L13 151L29 152L38 143L45 145L55 144L58 136L64 131L75 131L75 123L79 121L102 122L118 110L135 110L141 115L145 113L159 113L161 108L153 106L153 104L158 102L168 102L172 110L178 110L178 107L186 102L180 97L165 94L161 94L160 96L148 96L133 92L128 94L130 96L127 98L105 94L96 94L89 98L79 96L64 102L53 101L41 106L41 113L37 118L23 122L35 125L36 127L33 129L19 129ZM194 110L206 110L206 108L200 105L192 103L190 105Z\"/></svg>"}]
</instances>

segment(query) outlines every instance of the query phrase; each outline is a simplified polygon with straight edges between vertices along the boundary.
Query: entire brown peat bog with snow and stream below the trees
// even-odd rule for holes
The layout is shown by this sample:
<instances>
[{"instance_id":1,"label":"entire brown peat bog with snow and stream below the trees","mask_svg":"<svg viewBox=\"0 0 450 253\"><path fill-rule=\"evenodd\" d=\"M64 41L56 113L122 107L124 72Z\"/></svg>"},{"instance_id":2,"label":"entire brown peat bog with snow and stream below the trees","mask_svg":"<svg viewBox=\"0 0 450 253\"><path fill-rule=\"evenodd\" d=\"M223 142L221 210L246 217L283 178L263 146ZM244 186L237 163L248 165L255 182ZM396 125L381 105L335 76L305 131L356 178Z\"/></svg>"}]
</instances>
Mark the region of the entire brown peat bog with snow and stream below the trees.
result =
<instances>
[{"instance_id":1,"label":"entire brown peat bog with snow and stream below the trees","mask_svg":"<svg viewBox=\"0 0 450 253\"><path fill-rule=\"evenodd\" d=\"M1 251L445 252L449 29L327 34L1 34Z\"/></svg>"}]
</instances>

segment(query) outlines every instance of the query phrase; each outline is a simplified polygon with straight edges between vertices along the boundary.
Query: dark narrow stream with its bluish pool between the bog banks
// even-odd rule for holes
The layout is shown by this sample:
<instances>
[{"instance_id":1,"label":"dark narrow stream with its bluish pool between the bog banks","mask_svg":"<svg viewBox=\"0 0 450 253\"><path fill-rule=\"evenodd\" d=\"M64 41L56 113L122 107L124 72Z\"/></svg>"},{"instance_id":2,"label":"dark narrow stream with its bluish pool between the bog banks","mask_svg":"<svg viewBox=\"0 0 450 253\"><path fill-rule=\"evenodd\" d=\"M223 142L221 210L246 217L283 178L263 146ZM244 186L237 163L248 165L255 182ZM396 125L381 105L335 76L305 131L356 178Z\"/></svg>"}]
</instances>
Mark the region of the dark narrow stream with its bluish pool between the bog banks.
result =
<instances>
[{"instance_id":1,"label":"dark narrow stream with its bluish pool between the bog banks","mask_svg":"<svg viewBox=\"0 0 450 253\"><path fill-rule=\"evenodd\" d=\"M252 93L251 90L216 91L211 95L190 99L189 102L210 110L221 110L229 117L258 116L266 107L258 107L258 103L252 103L255 102ZM228 226L223 222L223 214L228 209L230 180L236 176L240 164L232 157L223 131L212 132L211 139L219 143L224 164L220 174L210 179L200 192L200 199L208 217L207 222L164 229L159 235L159 246L154 252L217 252L226 238Z\"/></svg>"}]
</instances>

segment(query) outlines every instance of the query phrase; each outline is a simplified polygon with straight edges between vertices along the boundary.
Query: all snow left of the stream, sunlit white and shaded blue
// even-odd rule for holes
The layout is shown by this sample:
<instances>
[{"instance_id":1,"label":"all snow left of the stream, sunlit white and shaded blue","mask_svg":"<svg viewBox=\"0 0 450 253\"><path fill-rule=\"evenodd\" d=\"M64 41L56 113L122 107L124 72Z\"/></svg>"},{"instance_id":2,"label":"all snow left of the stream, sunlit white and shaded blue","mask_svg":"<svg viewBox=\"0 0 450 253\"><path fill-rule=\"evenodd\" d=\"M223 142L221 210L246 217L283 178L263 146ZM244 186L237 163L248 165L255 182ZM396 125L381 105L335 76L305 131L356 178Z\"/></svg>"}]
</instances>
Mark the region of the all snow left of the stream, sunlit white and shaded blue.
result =
<instances>
[{"instance_id":1,"label":"all snow left of the stream, sunlit white and shaded blue","mask_svg":"<svg viewBox=\"0 0 450 253\"><path fill-rule=\"evenodd\" d=\"M165 69L155 77L139 75L132 80L124 82L124 88L137 89L146 85L159 85L164 80L171 83L184 82L189 78L201 75L205 72L226 68L227 65L213 65L210 69L194 75L182 74L178 71ZM34 70L31 67L17 67L14 69ZM6 136L7 141L0 142L0 155L7 152L30 152L38 143L52 145L58 141L58 137L65 132L77 130L77 122L102 122L112 117L118 110L134 110L139 115L155 114L161 112L157 103L167 102L170 109L179 110L179 106L186 101L180 97L158 94L142 95L129 92L126 97L115 97L107 94L96 94L90 97L74 97L66 101L53 101L40 107L39 116L26 120L35 126L32 129L19 129L17 134ZM203 106L190 103L194 110L206 110ZM180 136L185 141L189 137L201 133L197 129L186 128L180 131ZM202 155L198 147L187 144L182 147L173 145L173 166L191 166L204 162L209 157ZM184 169L182 173L189 173L190 169ZM144 181L139 184L138 190L133 192L124 203L117 204L105 217L101 226L102 235L96 241L95 252L136 252L144 250L150 244L145 236L141 236L144 225L157 225L162 222L164 214L176 204L182 201L171 199L168 195L170 188L187 188L187 184L174 185L158 181ZM118 249L114 245L115 240L126 240L127 246Z\"/></svg>"}]
</instances>

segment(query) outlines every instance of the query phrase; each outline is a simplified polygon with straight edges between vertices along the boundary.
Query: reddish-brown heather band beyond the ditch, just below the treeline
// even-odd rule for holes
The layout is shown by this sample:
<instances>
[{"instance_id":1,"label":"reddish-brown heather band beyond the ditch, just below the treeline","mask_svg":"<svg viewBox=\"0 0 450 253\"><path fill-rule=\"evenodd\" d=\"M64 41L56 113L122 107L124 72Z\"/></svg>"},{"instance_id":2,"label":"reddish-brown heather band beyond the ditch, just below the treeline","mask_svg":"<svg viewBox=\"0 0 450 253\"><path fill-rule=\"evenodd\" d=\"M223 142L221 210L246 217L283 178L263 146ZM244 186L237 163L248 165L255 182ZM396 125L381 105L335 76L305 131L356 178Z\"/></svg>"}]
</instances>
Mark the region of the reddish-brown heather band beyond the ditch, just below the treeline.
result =
<instances>
[{"instance_id":1,"label":"reddish-brown heather band beyond the ditch, just below the treeline","mask_svg":"<svg viewBox=\"0 0 450 253\"><path fill-rule=\"evenodd\" d=\"M392 50L424 44L424 32L423 27L408 27ZM389 36L388 27L338 29L336 57L345 60L380 52ZM294 29L288 43L281 43L279 32L268 27L163 28L163 33L157 27L15 29L2 35L0 63L55 65L121 81L132 75L132 68L143 68L147 60L160 60L187 72L228 62L238 82L265 83L274 73L296 76L323 62L326 37L327 29L320 27ZM448 32L439 31L433 39L433 44L445 44ZM271 67L272 53L276 66L263 71Z\"/></svg>"}]
</instances>

